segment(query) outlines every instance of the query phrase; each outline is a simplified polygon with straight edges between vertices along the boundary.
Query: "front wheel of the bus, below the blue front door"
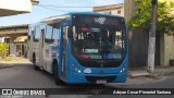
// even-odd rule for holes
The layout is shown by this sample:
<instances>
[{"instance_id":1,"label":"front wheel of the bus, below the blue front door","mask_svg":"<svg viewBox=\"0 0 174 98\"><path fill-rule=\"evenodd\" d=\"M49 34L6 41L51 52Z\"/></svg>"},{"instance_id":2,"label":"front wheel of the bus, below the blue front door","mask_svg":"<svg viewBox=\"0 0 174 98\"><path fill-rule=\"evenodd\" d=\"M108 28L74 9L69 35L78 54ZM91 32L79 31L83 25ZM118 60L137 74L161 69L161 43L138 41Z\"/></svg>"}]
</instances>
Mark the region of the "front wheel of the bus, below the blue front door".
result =
<instances>
[{"instance_id":1,"label":"front wheel of the bus, below the blue front door","mask_svg":"<svg viewBox=\"0 0 174 98\"><path fill-rule=\"evenodd\" d=\"M55 84L57 84L57 85L60 85L60 84L62 84L63 82L59 78L58 63L57 63L57 62L53 62L52 66L53 66L53 76L54 76L54 79L55 79Z\"/></svg>"}]
</instances>

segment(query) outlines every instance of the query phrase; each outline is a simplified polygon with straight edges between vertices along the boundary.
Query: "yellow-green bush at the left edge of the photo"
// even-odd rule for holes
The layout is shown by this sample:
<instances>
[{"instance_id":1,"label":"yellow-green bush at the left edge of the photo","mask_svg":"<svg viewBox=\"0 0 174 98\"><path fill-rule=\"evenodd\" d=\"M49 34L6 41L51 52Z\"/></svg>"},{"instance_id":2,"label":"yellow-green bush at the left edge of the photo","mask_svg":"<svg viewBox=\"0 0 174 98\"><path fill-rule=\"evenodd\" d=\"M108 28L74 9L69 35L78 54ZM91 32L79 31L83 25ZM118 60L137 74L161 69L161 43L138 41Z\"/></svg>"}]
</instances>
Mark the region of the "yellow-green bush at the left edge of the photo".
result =
<instances>
[{"instance_id":1,"label":"yellow-green bush at the left edge of the photo","mask_svg":"<svg viewBox=\"0 0 174 98\"><path fill-rule=\"evenodd\" d=\"M4 58L8 53L9 45L5 42L0 42L0 57Z\"/></svg>"}]
</instances>

